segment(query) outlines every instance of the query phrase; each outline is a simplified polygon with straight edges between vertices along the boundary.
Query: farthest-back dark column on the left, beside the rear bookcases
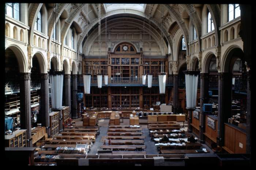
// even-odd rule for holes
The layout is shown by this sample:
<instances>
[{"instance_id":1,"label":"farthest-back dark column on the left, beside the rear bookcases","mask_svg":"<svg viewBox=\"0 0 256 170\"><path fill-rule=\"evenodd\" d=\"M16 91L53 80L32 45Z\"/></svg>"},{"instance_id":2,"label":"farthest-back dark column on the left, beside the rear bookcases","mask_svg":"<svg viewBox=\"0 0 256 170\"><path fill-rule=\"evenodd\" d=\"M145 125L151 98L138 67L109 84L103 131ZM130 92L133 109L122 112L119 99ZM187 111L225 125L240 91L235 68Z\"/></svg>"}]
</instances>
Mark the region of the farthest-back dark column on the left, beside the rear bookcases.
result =
<instances>
[{"instance_id":1,"label":"farthest-back dark column on the left, beside the rear bookcases","mask_svg":"<svg viewBox=\"0 0 256 170\"><path fill-rule=\"evenodd\" d=\"M73 96L73 101L72 101L72 119L78 119L78 113L77 113L77 74L72 74L72 79L73 79L73 89L72 89L72 96Z\"/></svg>"}]
</instances>

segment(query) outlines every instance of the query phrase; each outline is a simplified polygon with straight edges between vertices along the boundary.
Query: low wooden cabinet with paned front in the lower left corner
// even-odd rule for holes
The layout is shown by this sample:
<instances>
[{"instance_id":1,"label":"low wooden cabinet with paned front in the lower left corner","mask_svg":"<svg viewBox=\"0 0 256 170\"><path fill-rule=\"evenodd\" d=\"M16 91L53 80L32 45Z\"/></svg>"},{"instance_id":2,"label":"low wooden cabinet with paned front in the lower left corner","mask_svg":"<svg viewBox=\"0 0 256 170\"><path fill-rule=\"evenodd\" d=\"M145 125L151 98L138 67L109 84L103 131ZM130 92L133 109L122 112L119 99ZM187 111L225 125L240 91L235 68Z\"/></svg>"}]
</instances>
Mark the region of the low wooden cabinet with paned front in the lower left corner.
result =
<instances>
[{"instance_id":1,"label":"low wooden cabinet with paned front in the lower left corner","mask_svg":"<svg viewBox=\"0 0 256 170\"><path fill-rule=\"evenodd\" d=\"M27 130L16 130L12 135L5 135L5 147L26 147Z\"/></svg>"}]
</instances>

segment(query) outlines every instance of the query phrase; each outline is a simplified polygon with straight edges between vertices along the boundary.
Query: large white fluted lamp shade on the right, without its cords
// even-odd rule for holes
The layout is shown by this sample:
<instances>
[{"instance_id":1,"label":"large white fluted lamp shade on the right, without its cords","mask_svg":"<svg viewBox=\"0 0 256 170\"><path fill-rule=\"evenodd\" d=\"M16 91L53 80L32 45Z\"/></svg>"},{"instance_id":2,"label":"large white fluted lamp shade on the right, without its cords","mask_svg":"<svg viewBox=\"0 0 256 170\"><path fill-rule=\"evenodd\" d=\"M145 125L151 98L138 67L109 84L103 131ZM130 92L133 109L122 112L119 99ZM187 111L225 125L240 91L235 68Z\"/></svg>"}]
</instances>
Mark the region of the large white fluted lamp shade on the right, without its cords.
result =
<instances>
[{"instance_id":1,"label":"large white fluted lamp shade on the right, without its cords","mask_svg":"<svg viewBox=\"0 0 256 170\"><path fill-rule=\"evenodd\" d=\"M196 108L198 74L185 73L187 109Z\"/></svg>"}]
</instances>

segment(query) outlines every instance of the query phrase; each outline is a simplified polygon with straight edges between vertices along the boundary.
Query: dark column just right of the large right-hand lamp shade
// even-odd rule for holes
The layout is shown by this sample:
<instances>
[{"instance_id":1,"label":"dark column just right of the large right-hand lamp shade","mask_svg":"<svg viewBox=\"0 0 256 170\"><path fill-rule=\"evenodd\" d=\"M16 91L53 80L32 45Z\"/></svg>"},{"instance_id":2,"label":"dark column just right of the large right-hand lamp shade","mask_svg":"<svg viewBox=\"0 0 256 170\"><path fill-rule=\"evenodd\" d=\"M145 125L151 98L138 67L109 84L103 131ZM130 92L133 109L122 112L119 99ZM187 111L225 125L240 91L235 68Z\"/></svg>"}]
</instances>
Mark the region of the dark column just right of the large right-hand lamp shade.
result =
<instances>
[{"instance_id":1,"label":"dark column just right of the large right-hand lamp shade","mask_svg":"<svg viewBox=\"0 0 256 170\"><path fill-rule=\"evenodd\" d=\"M209 83L208 83L208 77L209 73L201 73L200 75L200 142L205 143L205 115L203 112L203 104L208 103L208 90L209 90Z\"/></svg>"}]
</instances>

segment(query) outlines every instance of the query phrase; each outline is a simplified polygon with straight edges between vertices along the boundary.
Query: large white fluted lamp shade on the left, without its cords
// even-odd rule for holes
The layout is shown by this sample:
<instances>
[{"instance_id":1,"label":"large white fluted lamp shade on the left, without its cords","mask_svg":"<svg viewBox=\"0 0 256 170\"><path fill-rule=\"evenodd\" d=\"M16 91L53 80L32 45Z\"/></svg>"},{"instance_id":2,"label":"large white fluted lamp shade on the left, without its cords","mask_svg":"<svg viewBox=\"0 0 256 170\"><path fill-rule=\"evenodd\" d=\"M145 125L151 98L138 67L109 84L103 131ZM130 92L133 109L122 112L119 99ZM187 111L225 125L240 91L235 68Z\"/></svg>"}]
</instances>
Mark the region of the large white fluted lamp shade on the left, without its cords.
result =
<instances>
[{"instance_id":1,"label":"large white fluted lamp shade on the left, without its cords","mask_svg":"<svg viewBox=\"0 0 256 170\"><path fill-rule=\"evenodd\" d=\"M63 74L50 75L50 83L52 84L52 108L59 109L62 107Z\"/></svg>"}]
</instances>

